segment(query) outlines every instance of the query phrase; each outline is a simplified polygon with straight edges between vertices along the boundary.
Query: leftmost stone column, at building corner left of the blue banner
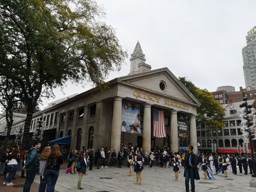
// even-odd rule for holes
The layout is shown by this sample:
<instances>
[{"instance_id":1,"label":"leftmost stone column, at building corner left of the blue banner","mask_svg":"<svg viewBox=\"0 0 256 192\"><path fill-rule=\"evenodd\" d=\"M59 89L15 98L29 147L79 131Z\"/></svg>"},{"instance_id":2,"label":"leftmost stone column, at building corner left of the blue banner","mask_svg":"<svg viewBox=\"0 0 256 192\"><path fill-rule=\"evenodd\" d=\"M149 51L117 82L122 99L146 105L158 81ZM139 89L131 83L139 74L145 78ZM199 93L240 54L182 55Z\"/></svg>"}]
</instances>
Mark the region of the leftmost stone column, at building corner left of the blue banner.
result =
<instances>
[{"instance_id":1,"label":"leftmost stone column, at building corner left of the blue banner","mask_svg":"<svg viewBox=\"0 0 256 192\"><path fill-rule=\"evenodd\" d=\"M115 97L112 117L112 131L110 151L118 152L121 144L122 97Z\"/></svg>"}]
</instances>

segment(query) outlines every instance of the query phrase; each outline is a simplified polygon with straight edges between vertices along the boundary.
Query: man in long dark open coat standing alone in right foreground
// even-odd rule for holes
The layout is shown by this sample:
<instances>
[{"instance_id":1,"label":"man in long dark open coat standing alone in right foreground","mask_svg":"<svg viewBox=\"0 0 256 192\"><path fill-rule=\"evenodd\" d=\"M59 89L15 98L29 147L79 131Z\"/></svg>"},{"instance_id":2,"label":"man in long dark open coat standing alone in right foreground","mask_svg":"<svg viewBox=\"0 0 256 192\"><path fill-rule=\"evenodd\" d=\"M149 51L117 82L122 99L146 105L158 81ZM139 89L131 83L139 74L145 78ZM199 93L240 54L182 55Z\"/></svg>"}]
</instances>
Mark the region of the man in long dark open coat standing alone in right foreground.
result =
<instances>
[{"instance_id":1,"label":"man in long dark open coat standing alone in right foreground","mask_svg":"<svg viewBox=\"0 0 256 192\"><path fill-rule=\"evenodd\" d=\"M197 169L197 155L193 152L193 146L187 147L187 154L185 157L185 186L186 192L190 192L189 182L191 182L192 192L195 192L194 180L199 180L199 173Z\"/></svg>"}]
</instances>

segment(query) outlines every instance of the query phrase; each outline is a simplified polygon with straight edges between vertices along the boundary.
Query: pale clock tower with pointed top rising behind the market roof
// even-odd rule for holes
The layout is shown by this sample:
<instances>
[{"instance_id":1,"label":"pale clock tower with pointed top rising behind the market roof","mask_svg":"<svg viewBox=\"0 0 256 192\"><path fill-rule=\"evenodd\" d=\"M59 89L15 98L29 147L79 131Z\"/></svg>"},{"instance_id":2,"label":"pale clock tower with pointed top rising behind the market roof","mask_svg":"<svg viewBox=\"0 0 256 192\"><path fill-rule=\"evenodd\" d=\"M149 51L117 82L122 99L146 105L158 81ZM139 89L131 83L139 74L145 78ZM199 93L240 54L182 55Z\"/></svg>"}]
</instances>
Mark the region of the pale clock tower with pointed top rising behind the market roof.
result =
<instances>
[{"instance_id":1,"label":"pale clock tower with pointed top rising behind the market roof","mask_svg":"<svg viewBox=\"0 0 256 192\"><path fill-rule=\"evenodd\" d=\"M138 41L133 53L130 55L130 72L128 75L150 71L151 66L146 64L145 61L145 55L143 54Z\"/></svg>"}]
</instances>

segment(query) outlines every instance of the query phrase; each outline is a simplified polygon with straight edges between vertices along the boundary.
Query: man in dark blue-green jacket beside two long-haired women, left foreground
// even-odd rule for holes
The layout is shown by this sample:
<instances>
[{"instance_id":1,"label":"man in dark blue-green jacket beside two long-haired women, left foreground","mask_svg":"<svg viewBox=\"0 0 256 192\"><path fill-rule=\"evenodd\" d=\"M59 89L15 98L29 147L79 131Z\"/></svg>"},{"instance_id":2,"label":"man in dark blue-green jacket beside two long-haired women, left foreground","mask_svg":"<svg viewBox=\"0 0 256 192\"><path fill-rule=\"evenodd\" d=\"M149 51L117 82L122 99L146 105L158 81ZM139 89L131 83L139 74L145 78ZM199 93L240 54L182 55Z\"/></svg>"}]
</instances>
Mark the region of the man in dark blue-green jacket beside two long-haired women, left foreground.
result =
<instances>
[{"instance_id":1,"label":"man in dark blue-green jacket beside two long-haired women, left foreground","mask_svg":"<svg viewBox=\"0 0 256 192\"><path fill-rule=\"evenodd\" d=\"M41 143L34 141L31 148L26 164L23 166L23 170L27 172L26 181L24 183L23 192L30 192L31 185L34 181L35 174L39 167L39 149Z\"/></svg>"}]
</instances>

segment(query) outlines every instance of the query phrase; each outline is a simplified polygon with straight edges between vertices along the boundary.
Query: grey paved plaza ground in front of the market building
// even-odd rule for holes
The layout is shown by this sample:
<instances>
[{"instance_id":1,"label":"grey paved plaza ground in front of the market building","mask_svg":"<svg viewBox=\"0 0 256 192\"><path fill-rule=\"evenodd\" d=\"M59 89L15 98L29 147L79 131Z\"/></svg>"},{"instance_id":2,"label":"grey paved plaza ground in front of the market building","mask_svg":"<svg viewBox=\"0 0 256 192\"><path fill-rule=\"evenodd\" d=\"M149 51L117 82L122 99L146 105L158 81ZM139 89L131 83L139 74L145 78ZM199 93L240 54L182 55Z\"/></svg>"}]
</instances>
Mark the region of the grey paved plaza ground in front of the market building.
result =
<instances>
[{"instance_id":1,"label":"grey paved plaza ground in front of the market building","mask_svg":"<svg viewBox=\"0 0 256 192\"><path fill-rule=\"evenodd\" d=\"M87 171L82 181L83 190L77 189L78 174L66 174L64 169L60 170L60 176L55 190L58 192L185 192L184 169L181 168L179 181L173 181L174 172L171 168L145 167L143 170L142 185L133 184L136 180L135 173L128 176L128 168L108 167ZM203 172L200 171L201 179L195 181L196 192L255 192L256 188L249 187L251 175L238 173L233 175L228 170L228 177L222 174L216 176L216 180L204 180ZM19 176L17 176L19 177ZM3 182L3 177L0 177ZM17 183L19 180L19 183ZM13 180L15 185L22 184L21 179ZM23 180L23 179L22 179ZM23 180L24 181L24 180ZM36 175L32 192L37 192L39 175ZM22 192L19 186L0 185L0 192Z\"/></svg>"}]
</instances>

